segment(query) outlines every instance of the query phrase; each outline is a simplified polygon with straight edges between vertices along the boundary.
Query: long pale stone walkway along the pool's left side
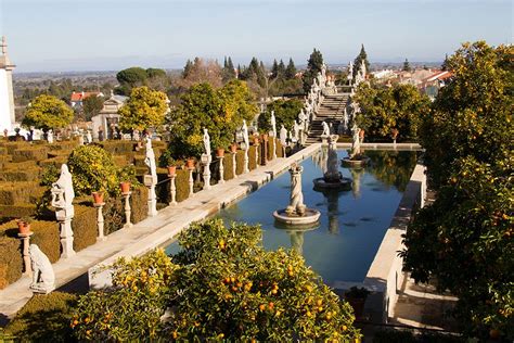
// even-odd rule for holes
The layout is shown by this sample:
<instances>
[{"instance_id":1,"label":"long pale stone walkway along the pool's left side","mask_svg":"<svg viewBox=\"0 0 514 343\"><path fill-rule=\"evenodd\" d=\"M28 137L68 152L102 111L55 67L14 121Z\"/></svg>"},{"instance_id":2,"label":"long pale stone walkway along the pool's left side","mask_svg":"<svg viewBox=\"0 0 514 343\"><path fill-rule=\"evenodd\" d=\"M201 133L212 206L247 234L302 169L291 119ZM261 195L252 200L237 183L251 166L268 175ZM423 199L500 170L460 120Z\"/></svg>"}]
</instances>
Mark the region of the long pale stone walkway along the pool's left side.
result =
<instances>
[{"instance_id":1,"label":"long pale stone walkway along the pool's left side","mask_svg":"<svg viewBox=\"0 0 514 343\"><path fill-rule=\"evenodd\" d=\"M223 185L197 192L175 206L160 209L155 217L149 217L132 228L111 233L106 241L88 246L73 257L57 261L53 264L55 287L60 288L83 276L99 264L108 264L119 256L141 255L156 246L165 245L192 221L204 219L243 198L285 170L293 162L301 161L312 154L319 147L320 144L312 144L293 156L270 161L268 165L259 166ZM33 296L28 289L29 283L30 278L22 277L0 292L0 317L12 317L28 302Z\"/></svg>"}]
</instances>

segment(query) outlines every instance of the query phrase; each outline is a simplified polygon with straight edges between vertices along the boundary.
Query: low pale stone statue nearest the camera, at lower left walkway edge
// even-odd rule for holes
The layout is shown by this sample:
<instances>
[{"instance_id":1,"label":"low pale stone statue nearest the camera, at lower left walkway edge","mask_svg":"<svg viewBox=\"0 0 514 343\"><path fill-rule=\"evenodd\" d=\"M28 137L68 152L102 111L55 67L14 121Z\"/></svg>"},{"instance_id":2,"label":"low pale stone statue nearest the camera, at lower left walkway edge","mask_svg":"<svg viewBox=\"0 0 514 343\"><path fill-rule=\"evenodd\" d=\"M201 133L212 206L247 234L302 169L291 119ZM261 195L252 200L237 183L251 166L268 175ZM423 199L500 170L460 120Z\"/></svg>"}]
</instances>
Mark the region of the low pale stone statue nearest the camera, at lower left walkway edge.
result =
<instances>
[{"instance_id":1,"label":"low pale stone statue nearest the camera, at lower left walkway edge","mask_svg":"<svg viewBox=\"0 0 514 343\"><path fill-rule=\"evenodd\" d=\"M33 267L33 282L30 290L37 293L49 293L55 288L55 275L47 255L36 244L28 247Z\"/></svg>"}]
</instances>

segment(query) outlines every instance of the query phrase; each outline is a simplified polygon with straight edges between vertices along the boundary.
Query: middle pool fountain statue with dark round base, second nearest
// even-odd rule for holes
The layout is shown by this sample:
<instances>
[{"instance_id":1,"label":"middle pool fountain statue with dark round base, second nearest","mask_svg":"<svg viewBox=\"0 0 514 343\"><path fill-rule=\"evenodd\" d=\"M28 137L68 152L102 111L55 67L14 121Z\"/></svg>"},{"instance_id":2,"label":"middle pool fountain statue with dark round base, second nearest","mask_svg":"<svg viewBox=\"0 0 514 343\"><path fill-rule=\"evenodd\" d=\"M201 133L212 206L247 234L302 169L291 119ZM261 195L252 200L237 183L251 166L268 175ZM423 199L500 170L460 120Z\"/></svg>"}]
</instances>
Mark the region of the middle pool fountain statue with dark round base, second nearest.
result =
<instances>
[{"instance_id":1,"label":"middle pool fountain statue with dark round base, second nearest","mask_svg":"<svg viewBox=\"0 0 514 343\"><path fill-rule=\"evenodd\" d=\"M337 139L339 136L329 137L329 158L326 158L326 172L323 177L313 179L314 189L349 190L351 179L343 177L337 167Z\"/></svg>"}]
</instances>

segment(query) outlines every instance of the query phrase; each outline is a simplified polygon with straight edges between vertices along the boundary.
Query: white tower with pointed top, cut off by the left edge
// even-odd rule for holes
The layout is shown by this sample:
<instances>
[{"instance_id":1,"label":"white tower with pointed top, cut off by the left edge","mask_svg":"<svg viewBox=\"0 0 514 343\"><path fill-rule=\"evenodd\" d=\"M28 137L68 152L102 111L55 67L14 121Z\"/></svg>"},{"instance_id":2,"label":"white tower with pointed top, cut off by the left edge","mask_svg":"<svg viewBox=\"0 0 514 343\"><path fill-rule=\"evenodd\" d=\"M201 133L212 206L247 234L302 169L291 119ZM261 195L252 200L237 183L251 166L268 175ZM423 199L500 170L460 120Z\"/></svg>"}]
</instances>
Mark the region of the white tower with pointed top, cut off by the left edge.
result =
<instances>
[{"instance_id":1,"label":"white tower with pointed top, cut off by the left edge","mask_svg":"<svg viewBox=\"0 0 514 343\"><path fill-rule=\"evenodd\" d=\"M8 56L8 43L5 37L0 42L2 54L0 55L0 135L3 130L12 131L14 128L14 94L13 94L13 69L14 64Z\"/></svg>"}]
</instances>

